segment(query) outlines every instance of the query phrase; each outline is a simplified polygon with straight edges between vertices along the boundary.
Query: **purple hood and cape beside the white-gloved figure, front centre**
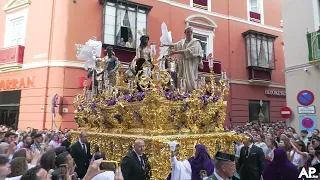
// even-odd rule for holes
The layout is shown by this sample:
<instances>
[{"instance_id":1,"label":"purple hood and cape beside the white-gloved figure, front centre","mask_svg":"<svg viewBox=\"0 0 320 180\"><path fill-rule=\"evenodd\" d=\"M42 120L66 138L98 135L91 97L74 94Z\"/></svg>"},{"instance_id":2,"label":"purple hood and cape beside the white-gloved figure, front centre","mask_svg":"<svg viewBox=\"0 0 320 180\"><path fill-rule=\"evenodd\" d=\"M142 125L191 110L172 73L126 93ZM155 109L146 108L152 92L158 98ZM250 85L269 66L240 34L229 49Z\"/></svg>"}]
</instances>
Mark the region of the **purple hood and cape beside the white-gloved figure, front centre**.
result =
<instances>
[{"instance_id":1,"label":"purple hood and cape beside the white-gloved figure, front centre","mask_svg":"<svg viewBox=\"0 0 320 180\"><path fill-rule=\"evenodd\" d=\"M192 180L202 180L200 171L206 170L207 175L211 176L214 171L213 160L211 159L205 145L196 145L196 153L194 157L188 159L192 169Z\"/></svg>"}]
</instances>

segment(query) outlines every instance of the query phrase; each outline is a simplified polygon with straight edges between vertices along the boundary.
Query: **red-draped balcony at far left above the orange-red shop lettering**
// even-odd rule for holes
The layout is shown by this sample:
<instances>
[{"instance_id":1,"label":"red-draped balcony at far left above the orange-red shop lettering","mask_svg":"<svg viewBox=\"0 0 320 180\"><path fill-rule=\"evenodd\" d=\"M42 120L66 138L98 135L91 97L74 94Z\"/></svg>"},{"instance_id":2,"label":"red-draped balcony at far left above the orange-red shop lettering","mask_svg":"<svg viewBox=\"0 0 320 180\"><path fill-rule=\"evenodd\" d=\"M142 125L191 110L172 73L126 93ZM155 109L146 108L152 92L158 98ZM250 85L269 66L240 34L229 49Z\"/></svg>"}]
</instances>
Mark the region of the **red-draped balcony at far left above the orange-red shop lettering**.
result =
<instances>
[{"instance_id":1,"label":"red-draped balcony at far left above the orange-red shop lettering","mask_svg":"<svg viewBox=\"0 0 320 180\"><path fill-rule=\"evenodd\" d=\"M24 46L14 46L0 49L0 71L22 68Z\"/></svg>"}]
</instances>

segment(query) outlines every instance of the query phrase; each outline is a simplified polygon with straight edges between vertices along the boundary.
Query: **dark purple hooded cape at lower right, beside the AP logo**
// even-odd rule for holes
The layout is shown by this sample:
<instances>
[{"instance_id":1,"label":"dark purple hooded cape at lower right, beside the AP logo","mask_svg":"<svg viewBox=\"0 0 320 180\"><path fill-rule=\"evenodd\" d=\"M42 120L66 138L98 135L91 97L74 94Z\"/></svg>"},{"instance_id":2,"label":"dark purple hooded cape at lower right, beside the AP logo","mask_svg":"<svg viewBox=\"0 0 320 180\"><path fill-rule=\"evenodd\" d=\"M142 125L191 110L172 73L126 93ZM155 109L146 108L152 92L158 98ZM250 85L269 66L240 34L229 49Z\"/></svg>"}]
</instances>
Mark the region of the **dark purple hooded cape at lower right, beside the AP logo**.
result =
<instances>
[{"instance_id":1,"label":"dark purple hooded cape at lower right, beside the AP logo","mask_svg":"<svg viewBox=\"0 0 320 180\"><path fill-rule=\"evenodd\" d=\"M264 180L298 180L298 169L288 160L287 153L282 148L274 150L273 161L263 171Z\"/></svg>"}]
</instances>

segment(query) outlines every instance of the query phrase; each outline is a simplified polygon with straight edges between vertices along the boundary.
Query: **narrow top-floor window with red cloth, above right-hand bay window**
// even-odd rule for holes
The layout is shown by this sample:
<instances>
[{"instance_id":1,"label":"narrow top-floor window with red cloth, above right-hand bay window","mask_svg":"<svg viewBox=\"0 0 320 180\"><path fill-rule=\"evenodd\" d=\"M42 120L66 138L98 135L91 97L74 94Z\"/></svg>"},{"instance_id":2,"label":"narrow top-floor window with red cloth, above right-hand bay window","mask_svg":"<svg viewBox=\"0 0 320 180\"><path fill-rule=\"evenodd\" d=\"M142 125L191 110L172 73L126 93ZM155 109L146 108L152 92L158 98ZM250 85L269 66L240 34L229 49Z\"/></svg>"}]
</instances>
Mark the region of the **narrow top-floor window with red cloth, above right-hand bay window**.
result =
<instances>
[{"instance_id":1,"label":"narrow top-floor window with red cloth, above right-hand bay window","mask_svg":"<svg viewBox=\"0 0 320 180\"><path fill-rule=\"evenodd\" d=\"M248 0L249 20L263 24L263 0Z\"/></svg>"}]
</instances>

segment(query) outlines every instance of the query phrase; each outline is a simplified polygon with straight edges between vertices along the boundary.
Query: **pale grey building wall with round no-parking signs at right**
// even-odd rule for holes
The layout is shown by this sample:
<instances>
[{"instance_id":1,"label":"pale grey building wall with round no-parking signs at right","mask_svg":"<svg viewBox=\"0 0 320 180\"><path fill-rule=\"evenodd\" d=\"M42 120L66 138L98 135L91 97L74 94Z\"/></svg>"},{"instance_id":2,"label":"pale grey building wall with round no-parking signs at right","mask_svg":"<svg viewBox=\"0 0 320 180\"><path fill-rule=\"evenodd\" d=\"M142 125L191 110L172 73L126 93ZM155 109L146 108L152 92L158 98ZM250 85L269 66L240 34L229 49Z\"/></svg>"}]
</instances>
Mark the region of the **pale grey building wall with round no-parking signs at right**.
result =
<instances>
[{"instance_id":1,"label":"pale grey building wall with round no-parking signs at right","mask_svg":"<svg viewBox=\"0 0 320 180\"><path fill-rule=\"evenodd\" d=\"M319 127L320 3L283 0L282 7L287 105L293 112L288 121L297 130L311 131Z\"/></svg>"}]
</instances>

